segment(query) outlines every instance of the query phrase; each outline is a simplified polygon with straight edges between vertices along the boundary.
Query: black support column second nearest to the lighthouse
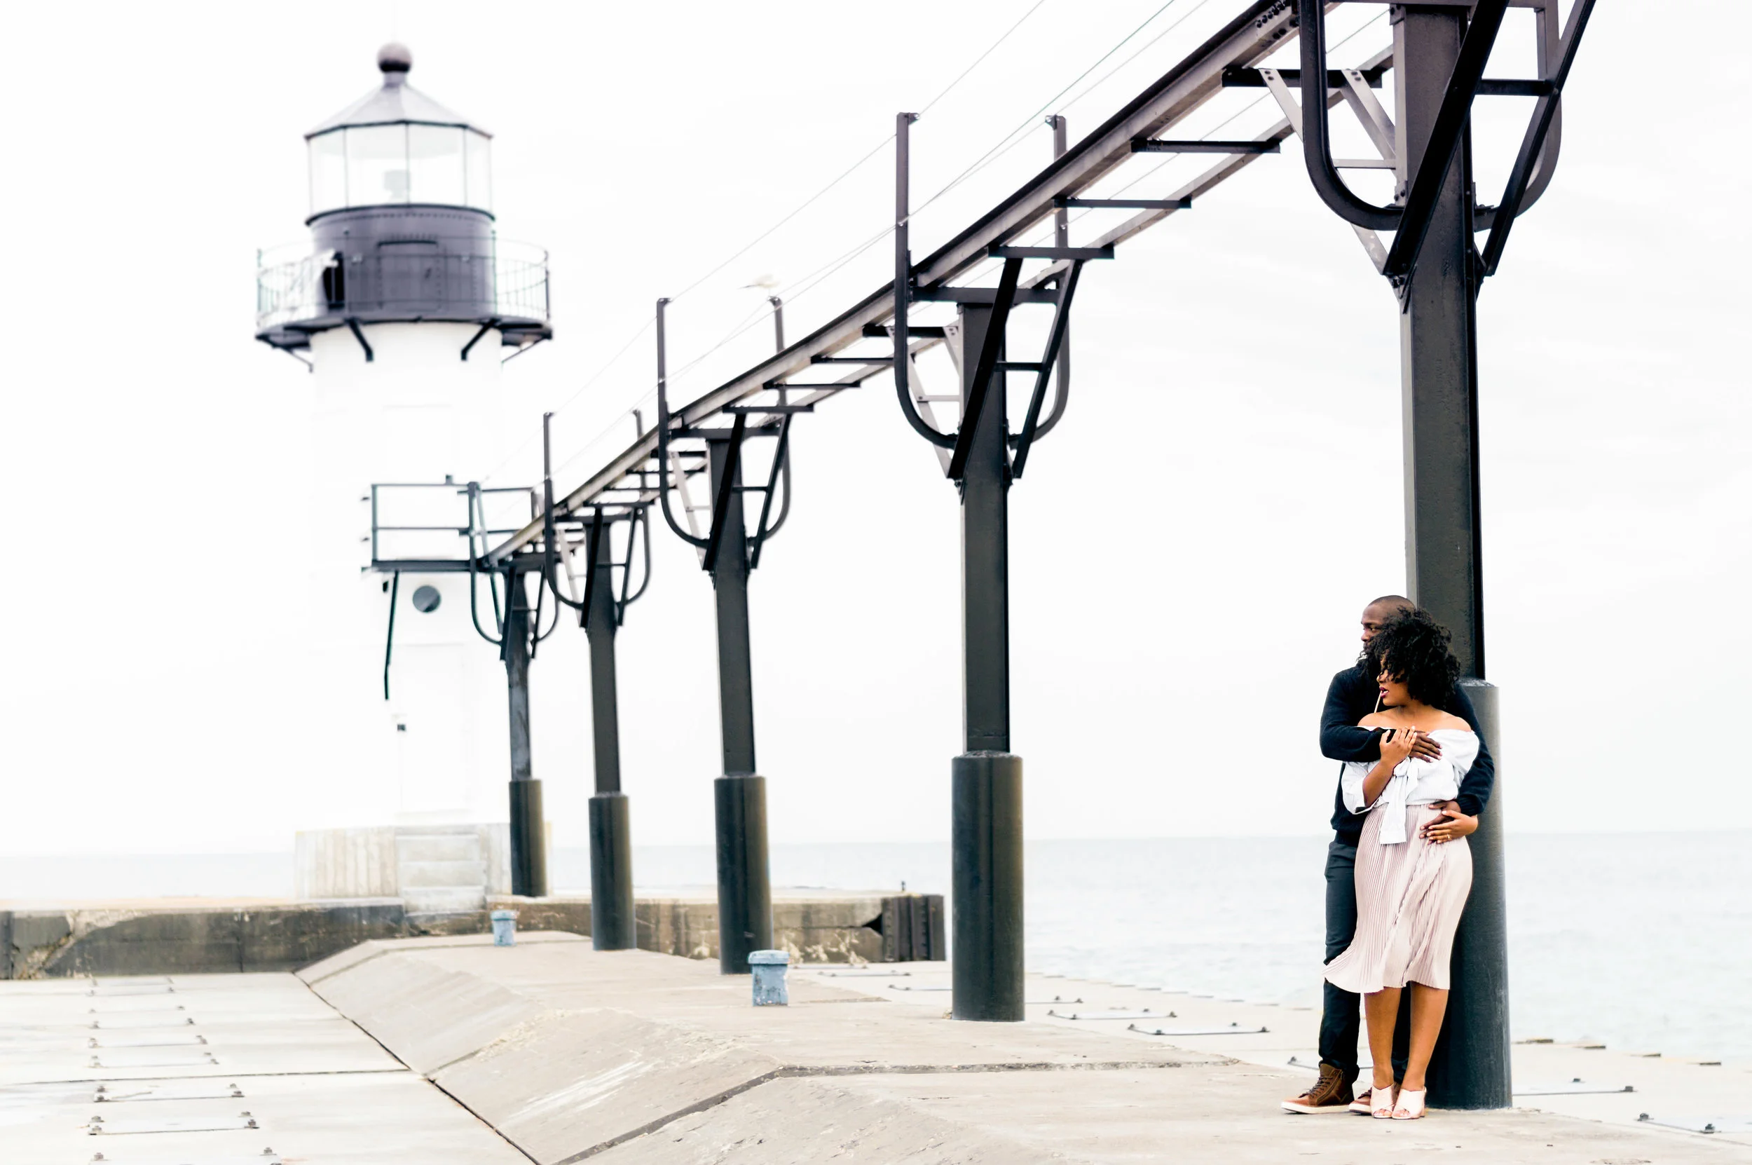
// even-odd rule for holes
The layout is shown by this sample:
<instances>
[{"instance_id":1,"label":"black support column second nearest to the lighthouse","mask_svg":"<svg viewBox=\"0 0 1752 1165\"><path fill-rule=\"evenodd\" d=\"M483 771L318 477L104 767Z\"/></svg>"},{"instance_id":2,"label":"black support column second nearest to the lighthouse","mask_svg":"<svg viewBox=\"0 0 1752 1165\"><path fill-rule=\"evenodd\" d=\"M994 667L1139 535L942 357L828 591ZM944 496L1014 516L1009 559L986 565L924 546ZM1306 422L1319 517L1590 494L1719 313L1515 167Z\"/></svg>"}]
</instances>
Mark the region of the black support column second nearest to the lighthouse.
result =
<instances>
[{"instance_id":1,"label":"black support column second nearest to the lighthouse","mask_svg":"<svg viewBox=\"0 0 1752 1165\"><path fill-rule=\"evenodd\" d=\"M632 555L627 522L627 557ZM585 634L590 639L590 727L596 738L596 794L590 797L590 946L631 951L638 946L632 913L632 830L620 792L620 708L615 687L613 526L604 526L590 585Z\"/></svg>"}]
</instances>

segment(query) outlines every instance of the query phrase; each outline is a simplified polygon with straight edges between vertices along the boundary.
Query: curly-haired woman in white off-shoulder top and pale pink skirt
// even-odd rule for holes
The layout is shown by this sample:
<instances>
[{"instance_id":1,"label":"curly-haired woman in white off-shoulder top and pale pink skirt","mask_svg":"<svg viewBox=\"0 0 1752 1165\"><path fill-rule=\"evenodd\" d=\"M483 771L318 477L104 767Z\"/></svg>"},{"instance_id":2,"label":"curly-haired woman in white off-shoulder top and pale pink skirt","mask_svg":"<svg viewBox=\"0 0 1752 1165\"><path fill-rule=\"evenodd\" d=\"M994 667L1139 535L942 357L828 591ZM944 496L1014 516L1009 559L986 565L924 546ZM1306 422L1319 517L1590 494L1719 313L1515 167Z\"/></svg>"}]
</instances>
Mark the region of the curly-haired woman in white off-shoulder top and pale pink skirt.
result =
<instances>
[{"instance_id":1,"label":"curly-haired woman in white off-shoulder top and pale pink skirt","mask_svg":"<svg viewBox=\"0 0 1752 1165\"><path fill-rule=\"evenodd\" d=\"M1447 1009L1454 927L1472 890L1472 851L1447 825L1459 816L1449 802L1479 755L1479 738L1465 720L1440 711L1459 678L1447 645L1447 629L1421 610L1398 615L1368 641L1381 703L1358 724L1386 729L1381 760L1351 762L1342 776L1346 808L1367 813L1368 822L1356 848L1356 937L1326 964L1326 979L1363 997L1377 1119L1424 1114L1424 1070ZM1442 745L1440 760L1410 755L1421 736ZM1407 983L1410 1055L1395 1090L1393 1023Z\"/></svg>"}]
</instances>

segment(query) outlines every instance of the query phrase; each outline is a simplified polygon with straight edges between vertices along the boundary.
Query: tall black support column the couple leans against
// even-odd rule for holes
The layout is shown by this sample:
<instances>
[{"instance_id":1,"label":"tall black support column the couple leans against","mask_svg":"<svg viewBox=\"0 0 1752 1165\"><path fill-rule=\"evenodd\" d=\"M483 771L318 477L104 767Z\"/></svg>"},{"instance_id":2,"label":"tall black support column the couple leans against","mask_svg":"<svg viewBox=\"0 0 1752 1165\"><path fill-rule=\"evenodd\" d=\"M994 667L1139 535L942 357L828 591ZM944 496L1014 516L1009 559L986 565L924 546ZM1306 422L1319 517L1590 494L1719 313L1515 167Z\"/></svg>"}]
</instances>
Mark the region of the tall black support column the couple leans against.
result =
<instances>
[{"instance_id":1,"label":"tall black support column the couple leans against","mask_svg":"<svg viewBox=\"0 0 1752 1165\"><path fill-rule=\"evenodd\" d=\"M1466 11L1396 9L1400 180L1416 173L1459 56ZM1500 1109L1508 1081L1508 951L1496 690L1484 683L1479 540L1479 370L1470 133L1442 187L1403 289L1405 575L1410 597L1454 632L1466 692L1498 757L1496 794L1470 837L1472 897L1454 939L1447 1023L1430 1063L1430 1104Z\"/></svg>"}]
</instances>

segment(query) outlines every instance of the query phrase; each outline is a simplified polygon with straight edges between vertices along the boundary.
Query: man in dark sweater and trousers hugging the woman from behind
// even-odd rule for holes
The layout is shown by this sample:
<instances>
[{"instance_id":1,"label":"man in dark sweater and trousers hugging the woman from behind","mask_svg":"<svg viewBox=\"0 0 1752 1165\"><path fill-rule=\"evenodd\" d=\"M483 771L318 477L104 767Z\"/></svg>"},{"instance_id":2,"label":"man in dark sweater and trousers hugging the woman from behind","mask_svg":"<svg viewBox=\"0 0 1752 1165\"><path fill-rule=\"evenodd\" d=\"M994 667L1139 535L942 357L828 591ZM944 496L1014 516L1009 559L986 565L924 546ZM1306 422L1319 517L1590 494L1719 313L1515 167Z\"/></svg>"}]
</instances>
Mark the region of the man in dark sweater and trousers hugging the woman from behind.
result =
<instances>
[{"instance_id":1,"label":"man in dark sweater and trousers hugging the woman from behind","mask_svg":"<svg viewBox=\"0 0 1752 1165\"><path fill-rule=\"evenodd\" d=\"M1400 611L1412 610L1412 601L1405 596L1388 594L1363 608L1363 643L1375 638L1375 632ZM1326 710L1319 722L1319 750L1332 760L1381 760L1381 729L1360 729L1356 722L1375 708L1379 688L1375 676L1367 674L1361 659L1332 678L1326 688ZM1430 837L1452 841L1465 837L1479 827L1479 813L1491 799L1491 787L1496 781L1496 766L1486 748L1484 732L1479 731L1479 713L1472 710L1472 701L1461 688L1454 688L1442 708L1479 732L1479 759L1472 762L1465 780L1459 783L1459 795L1438 806L1449 816L1424 829ZM1412 748L1414 755L1435 759L1442 755L1442 746L1433 739L1421 738ZM1326 848L1326 962L1332 962L1351 946L1356 934L1356 843L1363 834L1363 815L1344 808L1344 792L1333 801L1332 813L1333 839ZM1319 1079L1312 1088L1298 1097L1284 1100L1288 1112L1368 1112L1368 1090L1351 1095L1356 1083L1356 1041L1360 1035L1358 1007L1361 999L1340 990L1332 983L1325 985L1326 997L1319 1021ZM1409 999L1409 993L1407 993ZM1395 1027L1393 1076L1405 1070L1405 1032L1410 1023L1402 1016Z\"/></svg>"}]
</instances>

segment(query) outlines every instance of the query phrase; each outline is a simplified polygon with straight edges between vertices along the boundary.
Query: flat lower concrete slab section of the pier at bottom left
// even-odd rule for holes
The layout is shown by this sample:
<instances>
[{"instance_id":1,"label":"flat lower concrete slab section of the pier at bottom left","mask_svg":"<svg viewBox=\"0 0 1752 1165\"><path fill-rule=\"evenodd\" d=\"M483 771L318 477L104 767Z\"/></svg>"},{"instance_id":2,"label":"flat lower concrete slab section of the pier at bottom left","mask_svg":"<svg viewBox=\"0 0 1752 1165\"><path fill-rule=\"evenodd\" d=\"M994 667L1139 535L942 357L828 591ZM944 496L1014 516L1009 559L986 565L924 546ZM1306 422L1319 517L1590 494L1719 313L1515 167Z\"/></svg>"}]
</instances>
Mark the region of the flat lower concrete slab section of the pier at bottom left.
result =
<instances>
[{"instance_id":1,"label":"flat lower concrete slab section of the pier at bottom left","mask_svg":"<svg viewBox=\"0 0 1752 1165\"><path fill-rule=\"evenodd\" d=\"M291 974L0 985L0 1160L527 1158Z\"/></svg>"}]
</instances>

